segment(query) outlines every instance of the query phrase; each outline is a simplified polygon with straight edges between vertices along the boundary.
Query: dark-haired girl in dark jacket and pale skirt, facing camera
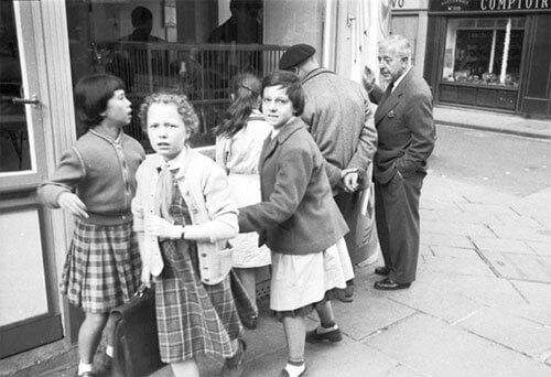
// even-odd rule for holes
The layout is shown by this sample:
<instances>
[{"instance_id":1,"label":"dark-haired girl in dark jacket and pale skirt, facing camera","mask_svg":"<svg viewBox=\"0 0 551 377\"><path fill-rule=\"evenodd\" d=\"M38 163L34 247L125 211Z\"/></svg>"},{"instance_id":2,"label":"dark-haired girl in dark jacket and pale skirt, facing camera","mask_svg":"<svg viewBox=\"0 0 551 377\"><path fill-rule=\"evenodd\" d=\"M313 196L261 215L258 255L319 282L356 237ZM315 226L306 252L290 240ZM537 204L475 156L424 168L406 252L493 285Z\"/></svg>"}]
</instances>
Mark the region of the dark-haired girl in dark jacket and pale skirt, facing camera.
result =
<instances>
[{"instance_id":1,"label":"dark-haired girl in dark jacket and pale skirt, facing camera","mask_svg":"<svg viewBox=\"0 0 551 377\"><path fill-rule=\"evenodd\" d=\"M239 208L239 231L260 231L272 251L270 308L282 319L289 360L280 377L305 373L305 338L342 340L327 293L345 288L337 243L348 231L325 173L325 160L300 115L296 75L276 72L262 82L262 112L272 127L260 153L261 198ZM315 309L322 326L306 334ZM321 335L320 333L323 333Z\"/></svg>"}]
</instances>

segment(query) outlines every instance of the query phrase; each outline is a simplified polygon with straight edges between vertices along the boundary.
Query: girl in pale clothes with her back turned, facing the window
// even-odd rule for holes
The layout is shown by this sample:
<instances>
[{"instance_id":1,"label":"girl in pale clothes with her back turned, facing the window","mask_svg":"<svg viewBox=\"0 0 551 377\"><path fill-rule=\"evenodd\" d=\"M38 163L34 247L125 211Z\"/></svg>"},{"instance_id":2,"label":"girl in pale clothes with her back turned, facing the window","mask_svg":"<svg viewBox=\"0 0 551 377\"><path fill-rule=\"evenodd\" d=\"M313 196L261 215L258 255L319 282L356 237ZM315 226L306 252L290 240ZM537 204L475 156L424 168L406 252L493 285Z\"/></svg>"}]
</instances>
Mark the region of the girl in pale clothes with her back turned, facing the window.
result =
<instances>
[{"instance_id":1,"label":"girl in pale clothes with her back turned, facing the window","mask_svg":"<svg viewBox=\"0 0 551 377\"><path fill-rule=\"evenodd\" d=\"M238 206L260 202L258 160L271 127L258 110L260 80L252 74L240 74L231 80L231 104L223 123L216 129L216 162L228 173L229 185ZM256 305L257 271L271 262L270 250L258 247L255 233L238 235L235 240L234 270L255 302L257 314L244 319L249 328L257 325Z\"/></svg>"}]
</instances>

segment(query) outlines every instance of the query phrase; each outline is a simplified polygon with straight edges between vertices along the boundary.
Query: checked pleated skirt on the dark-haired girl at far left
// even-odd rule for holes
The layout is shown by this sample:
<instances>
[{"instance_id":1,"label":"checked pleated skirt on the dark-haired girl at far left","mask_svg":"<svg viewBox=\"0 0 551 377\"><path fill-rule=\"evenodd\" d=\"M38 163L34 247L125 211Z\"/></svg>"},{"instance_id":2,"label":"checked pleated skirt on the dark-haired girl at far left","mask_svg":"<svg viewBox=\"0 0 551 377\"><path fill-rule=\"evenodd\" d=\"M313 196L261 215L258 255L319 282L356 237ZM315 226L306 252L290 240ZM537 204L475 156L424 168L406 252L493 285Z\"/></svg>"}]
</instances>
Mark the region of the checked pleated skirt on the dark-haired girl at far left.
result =
<instances>
[{"instance_id":1,"label":"checked pleated skirt on the dark-haired girl at far left","mask_svg":"<svg viewBox=\"0 0 551 377\"><path fill-rule=\"evenodd\" d=\"M141 283L141 259L132 223L76 222L60 289L85 312L106 313L129 301Z\"/></svg>"}]
</instances>

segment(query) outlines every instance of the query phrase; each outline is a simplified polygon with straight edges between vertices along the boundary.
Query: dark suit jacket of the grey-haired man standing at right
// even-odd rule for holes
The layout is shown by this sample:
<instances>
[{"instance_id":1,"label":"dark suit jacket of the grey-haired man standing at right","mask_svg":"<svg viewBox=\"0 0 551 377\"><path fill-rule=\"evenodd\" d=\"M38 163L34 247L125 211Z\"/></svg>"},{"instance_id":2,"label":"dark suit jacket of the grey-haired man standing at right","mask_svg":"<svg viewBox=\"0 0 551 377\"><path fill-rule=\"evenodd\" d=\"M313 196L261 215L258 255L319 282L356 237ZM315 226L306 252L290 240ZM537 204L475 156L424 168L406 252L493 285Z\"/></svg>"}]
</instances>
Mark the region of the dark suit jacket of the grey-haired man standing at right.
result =
<instances>
[{"instance_id":1,"label":"dark suit jacket of the grey-haired man standing at right","mask_svg":"<svg viewBox=\"0 0 551 377\"><path fill-rule=\"evenodd\" d=\"M411 68L391 94L385 93L375 112L379 146L374 176L389 182L397 172L407 176L426 171L434 149L432 94L426 82Z\"/></svg>"}]
</instances>

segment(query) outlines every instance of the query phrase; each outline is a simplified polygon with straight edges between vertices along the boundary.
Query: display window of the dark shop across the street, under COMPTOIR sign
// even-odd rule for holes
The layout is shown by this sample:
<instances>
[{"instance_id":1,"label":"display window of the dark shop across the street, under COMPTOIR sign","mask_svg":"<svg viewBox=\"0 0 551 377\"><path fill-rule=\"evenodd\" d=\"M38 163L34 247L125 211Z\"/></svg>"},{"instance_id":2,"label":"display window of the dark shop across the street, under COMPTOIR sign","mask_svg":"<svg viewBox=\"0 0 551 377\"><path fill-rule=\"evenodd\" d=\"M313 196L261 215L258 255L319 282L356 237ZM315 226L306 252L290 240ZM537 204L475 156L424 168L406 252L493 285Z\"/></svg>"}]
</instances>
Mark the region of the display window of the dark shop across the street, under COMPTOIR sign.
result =
<instances>
[{"instance_id":1,"label":"display window of the dark shop across the street, under COMPTOIR sign","mask_svg":"<svg viewBox=\"0 0 551 377\"><path fill-rule=\"evenodd\" d=\"M518 87L523 36L523 18L450 19L443 82Z\"/></svg>"}]
</instances>

